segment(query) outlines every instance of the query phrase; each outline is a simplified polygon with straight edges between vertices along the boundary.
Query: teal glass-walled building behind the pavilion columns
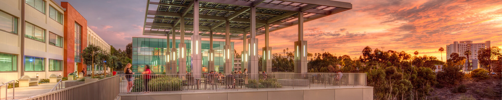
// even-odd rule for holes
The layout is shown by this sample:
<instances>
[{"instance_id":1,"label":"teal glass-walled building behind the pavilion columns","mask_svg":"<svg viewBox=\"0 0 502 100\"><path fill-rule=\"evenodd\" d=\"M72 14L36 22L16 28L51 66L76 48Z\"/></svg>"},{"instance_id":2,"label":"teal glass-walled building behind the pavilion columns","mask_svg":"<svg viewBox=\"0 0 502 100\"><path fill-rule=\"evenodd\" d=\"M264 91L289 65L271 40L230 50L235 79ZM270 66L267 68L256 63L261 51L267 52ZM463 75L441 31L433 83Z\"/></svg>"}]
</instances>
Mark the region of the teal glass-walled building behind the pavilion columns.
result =
<instances>
[{"instance_id":1,"label":"teal glass-walled building behind the pavilion columns","mask_svg":"<svg viewBox=\"0 0 502 100\"><path fill-rule=\"evenodd\" d=\"M225 49L223 49L223 45L225 45L225 41L213 41L212 46L214 49L214 53L211 54L209 53L210 50L210 43L209 41L203 40L201 42L201 54L202 54L202 72L203 73L209 73L211 70L215 70L217 72L223 72L223 56L225 54L223 53ZM147 38L147 37L133 37L133 72L143 72L145 68L145 64L149 64L152 68L152 71L155 73L169 73L171 68L166 67L168 66L166 64L166 60L172 60L173 59L173 53L168 53L167 49L172 48L173 45L169 45L167 47L167 44L173 44L172 40L170 39L169 42L167 42L167 39L165 38ZM191 52L192 50L192 45L191 45L190 40L185 40L185 49L186 54L182 54L181 56L185 56L184 59L187 60L185 62L185 67L188 72L192 71L192 63L188 62L191 59ZM176 39L175 42L175 48L177 48L177 52L180 50L180 39ZM233 51L233 42L230 42L231 48L230 51ZM176 64L176 69L179 69L179 53L174 54L174 59L177 61L178 64ZM211 59L210 56L213 56L214 59ZM233 53L230 53L230 57L233 58ZM214 67L210 68L209 67L209 62L214 61ZM167 62L169 64L169 62ZM179 70L176 70L178 72ZM185 71L182 71L182 73L185 73Z\"/></svg>"}]
</instances>

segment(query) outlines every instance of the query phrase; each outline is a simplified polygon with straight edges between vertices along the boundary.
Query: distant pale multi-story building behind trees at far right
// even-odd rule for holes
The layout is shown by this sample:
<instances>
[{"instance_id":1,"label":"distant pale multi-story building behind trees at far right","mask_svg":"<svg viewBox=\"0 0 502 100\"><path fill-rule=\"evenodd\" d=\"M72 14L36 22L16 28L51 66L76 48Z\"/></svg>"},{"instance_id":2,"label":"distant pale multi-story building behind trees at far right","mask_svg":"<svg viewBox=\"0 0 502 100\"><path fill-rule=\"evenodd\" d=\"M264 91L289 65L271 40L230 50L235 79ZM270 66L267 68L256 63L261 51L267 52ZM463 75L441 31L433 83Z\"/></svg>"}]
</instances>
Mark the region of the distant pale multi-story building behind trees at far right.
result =
<instances>
[{"instance_id":1,"label":"distant pale multi-story building behind trees at far right","mask_svg":"<svg viewBox=\"0 0 502 100\"><path fill-rule=\"evenodd\" d=\"M479 62L477 60L478 50L480 48L490 47L490 41L484 41L480 43L473 43L472 40L466 41L454 41L452 44L446 45L446 58L450 59L451 53L458 53L460 56L467 57L463 54L465 51L470 50L471 55L469 55L469 60L466 59L464 64L464 71L470 71L479 68Z\"/></svg>"}]
</instances>

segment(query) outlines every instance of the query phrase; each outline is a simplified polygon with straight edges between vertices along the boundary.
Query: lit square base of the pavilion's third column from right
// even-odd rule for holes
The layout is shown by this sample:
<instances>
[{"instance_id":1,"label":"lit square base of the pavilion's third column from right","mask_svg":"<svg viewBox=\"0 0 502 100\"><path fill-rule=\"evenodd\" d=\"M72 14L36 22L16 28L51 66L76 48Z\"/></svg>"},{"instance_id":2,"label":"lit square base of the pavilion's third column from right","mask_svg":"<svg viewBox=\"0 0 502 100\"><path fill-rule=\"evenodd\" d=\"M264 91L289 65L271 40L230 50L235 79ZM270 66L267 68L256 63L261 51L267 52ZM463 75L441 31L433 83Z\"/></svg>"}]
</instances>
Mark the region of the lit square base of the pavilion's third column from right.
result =
<instances>
[{"instance_id":1,"label":"lit square base of the pavilion's third column from right","mask_svg":"<svg viewBox=\"0 0 502 100\"><path fill-rule=\"evenodd\" d=\"M258 73L258 38L249 38L247 39L249 43L247 43L248 47L248 60L247 63L247 73Z\"/></svg>"}]
</instances>

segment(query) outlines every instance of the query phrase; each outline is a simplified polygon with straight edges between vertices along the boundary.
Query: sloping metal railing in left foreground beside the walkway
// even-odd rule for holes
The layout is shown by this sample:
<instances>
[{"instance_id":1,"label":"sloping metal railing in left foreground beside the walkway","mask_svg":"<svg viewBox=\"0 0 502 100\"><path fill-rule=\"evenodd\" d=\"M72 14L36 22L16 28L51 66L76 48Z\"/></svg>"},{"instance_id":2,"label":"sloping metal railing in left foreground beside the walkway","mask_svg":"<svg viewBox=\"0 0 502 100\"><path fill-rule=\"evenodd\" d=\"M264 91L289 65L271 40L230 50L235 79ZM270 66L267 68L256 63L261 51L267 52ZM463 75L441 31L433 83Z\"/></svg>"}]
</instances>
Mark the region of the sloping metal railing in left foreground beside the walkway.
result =
<instances>
[{"instance_id":1,"label":"sloping metal railing in left foreground beside the walkway","mask_svg":"<svg viewBox=\"0 0 502 100\"><path fill-rule=\"evenodd\" d=\"M118 95L118 82L119 76L111 76L24 99L114 99Z\"/></svg>"}]
</instances>

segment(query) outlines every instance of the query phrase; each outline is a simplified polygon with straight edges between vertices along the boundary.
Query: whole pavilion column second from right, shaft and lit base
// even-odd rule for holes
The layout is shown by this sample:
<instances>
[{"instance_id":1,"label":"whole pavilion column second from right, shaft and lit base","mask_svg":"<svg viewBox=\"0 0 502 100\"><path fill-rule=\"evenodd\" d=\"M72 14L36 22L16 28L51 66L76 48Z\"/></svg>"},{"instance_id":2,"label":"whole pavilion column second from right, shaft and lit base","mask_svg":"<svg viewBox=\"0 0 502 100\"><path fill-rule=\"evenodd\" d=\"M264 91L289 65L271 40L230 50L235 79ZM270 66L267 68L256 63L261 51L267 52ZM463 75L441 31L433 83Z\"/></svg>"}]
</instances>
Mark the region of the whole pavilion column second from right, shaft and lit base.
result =
<instances>
[{"instance_id":1,"label":"whole pavilion column second from right, shaft and lit base","mask_svg":"<svg viewBox=\"0 0 502 100\"><path fill-rule=\"evenodd\" d=\"M265 47L263 49L262 70L272 72L272 47L269 46L269 24L265 25Z\"/></svg>"}]
</instances>

